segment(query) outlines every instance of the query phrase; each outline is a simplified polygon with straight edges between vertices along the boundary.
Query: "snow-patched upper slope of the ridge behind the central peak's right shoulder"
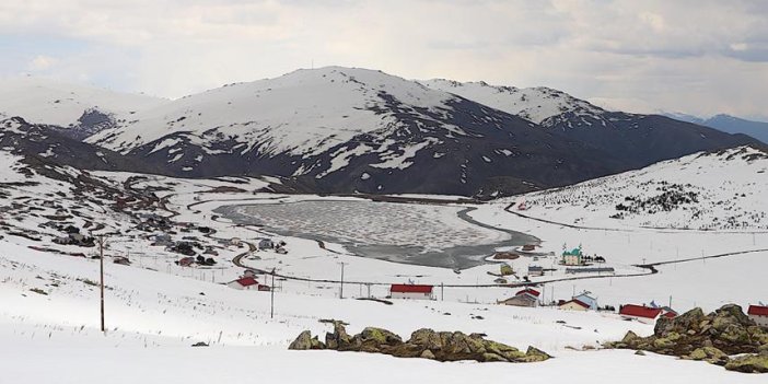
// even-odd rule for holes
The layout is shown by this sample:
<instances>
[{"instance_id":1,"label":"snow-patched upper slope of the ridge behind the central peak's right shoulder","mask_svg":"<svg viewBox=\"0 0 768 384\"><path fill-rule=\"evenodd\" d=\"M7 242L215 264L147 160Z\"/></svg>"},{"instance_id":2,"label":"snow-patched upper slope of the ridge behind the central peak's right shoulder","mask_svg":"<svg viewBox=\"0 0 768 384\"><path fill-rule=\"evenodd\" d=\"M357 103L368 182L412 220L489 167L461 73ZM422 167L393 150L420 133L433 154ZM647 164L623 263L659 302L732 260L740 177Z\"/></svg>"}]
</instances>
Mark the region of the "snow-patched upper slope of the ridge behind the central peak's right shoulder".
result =
<instances>
[{"instance_id":1,"label":"snow-patched upper slope of the ridge behind the central peak's right shoulder","mask_svg":"<svg viewBox=\"0 0 768 384\"><path fill-rule=\"evenodd\" d=\"M536 124L544 124L548 118L565 113L595 116L605 112L586 101L546 86L520 89L490 85L484 81L458 82L445 79L426 80L420 83L517 115Z\"/></svg>"}]
</instances>

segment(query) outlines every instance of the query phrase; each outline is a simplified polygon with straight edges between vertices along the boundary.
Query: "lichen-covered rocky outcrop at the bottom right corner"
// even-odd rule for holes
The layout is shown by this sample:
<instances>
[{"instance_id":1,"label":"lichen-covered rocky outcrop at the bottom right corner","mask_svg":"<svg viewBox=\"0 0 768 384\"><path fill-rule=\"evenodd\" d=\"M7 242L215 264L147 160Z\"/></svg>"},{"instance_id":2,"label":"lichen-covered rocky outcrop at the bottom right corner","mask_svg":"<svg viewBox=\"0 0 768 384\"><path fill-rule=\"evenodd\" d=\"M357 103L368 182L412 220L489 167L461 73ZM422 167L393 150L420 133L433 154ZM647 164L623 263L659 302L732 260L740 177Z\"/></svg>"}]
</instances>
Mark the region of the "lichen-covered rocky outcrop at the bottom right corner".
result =
<instances>
[{"instance_id":1,"label":"lichen-covered rocky outcrop at the bottom right corner","mask_svg":"<svg viewBox=\"0 0 768 384\"><path fill-rule=\"evenodd\" d=\"M661 317L652 336L628 331L621 341L606 347L701 360L740 372L768 372L768 329L757 326L735 304L708 315L694 309L672 319ZM742 356L731 358L734 354Z\"/></svg>"}]
</instances>

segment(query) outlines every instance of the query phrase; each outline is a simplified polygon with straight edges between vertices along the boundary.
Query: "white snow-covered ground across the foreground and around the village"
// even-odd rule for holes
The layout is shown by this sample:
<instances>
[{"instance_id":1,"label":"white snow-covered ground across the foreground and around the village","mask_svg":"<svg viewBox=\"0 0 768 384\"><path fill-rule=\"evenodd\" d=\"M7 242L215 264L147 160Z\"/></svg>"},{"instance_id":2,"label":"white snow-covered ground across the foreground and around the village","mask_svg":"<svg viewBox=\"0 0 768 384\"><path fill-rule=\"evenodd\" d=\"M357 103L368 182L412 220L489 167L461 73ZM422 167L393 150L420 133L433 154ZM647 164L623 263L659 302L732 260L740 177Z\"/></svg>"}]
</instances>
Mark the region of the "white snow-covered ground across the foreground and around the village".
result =
<instances>
[{"instance_id":1,"label":"white snow-covered ground across the foreground and around the village","mask_svg":"<svg viewBox=\"0 0 768 384\"><path fill-rule=\"evenodd\" d=\"M28 181L11 172L13 170L11 166L4 171L4 183L18 185ZM79 207L98 206L94 202L96 195L85 198L88 202L53 197L57 205L63 206L55 208L59 213L75 208L89 212L88 218L71 219L75 226L93 221L121 233L110 237L105 260L107 331L103 335L98 330L98 289L93 286L98 281L98 260L30 248L94 254L94 248L54 244L50 241L53 230L42 225L43 218L55 213L45 211L47 195L62 188L62 184L35 176L38 184L34 187L8 189L7 198L14 201L23 202L20 196L32 196L30 205L36 207L34 212L37 213L3 217L3 223L15 233L36 232L33 238L9 232L0 240L0 339L3 340L0 345L3 380L0 382L219 383L243 376L280 383L466 383L532 379L647 383L649 376L663 383L765 382L765 375L729 372L705 362L650 353L636 356L626 350L593 350L604 341L620 339L627 330L650 335L653 327L626 322L607 312L499 305L497 301L511 296L519 289L494 286L497 277L490 274L499 271L499 261L489 260L456 274L451 268L360 257L341 244L275 235L266 228L235 225L226 218L216 217L214 212L226 205L321 200L342 207L345 201L365 201L362 199L254 194L254 189L264 185L259 181L248 182L251 184L240 181L241 191L223 191L214 188L232 187L234 181L146 177L127 183L130 176L135 175L95 175L114 188L130 184L135 189L155 190L163 198L163 207L154 212L142 208L143 214L161 214L171 217L174 222L213 229L213 234L198 234L198 237L216 249L218 264L186 268L176 265L174 261L182 256L152 245L154 240L132 231L133 218L108 210L100 213L95 207ZM344 218L335 225L325 217L322 226L345 242L353 241L354 236L360 242L368 237L373 237L368 238L371 242L386 242L397 237L396 231L404 231L411 245L440 249L467 242L459 234L440 235L440 225L453 225L454 231L470 225L456 217L459 207L470 207L474 210L467 214L487 225L465 228L482 235L475 237L477 242L494 243L507 238L505 232L496 232L492 228L520 231L540 240L536 260L533 256L505 260L517 271L507 279L512 284L522 283L528 265L551 268L552 271L543 277L531 278L542 284L538 289L545 301L567 300L586 290L597 298L600 305L651 301L665 305L671 301L672 306L682 312L694 306L711 311L731 302L746 306L768 298L768 286L763 277L768 267L766 232L655 230L629 225L586 229L573 226L572 222L568 223L571 226L559 224L550 214L536 217L537 209L526 211L527 217L516 214L520 212L507 210L512 202L513 199L485 205L412 205L409 218L429 222L423 228L412 223L397 225L402 209L376 211L373 205L370 214L377 214L375 222L386 231L366 231L364 223L350 225L342 223ZM356 211L356 214L360 213ZM312 221L311 211L306 212L306 220ZM272 222L276 226L290 223L290 220ZM305 226L307 232L317 231L312 225ZM174 234L173 240L189 235ZM288 244L288 254L248 252L245 245L223 244L233 237L247 243L257 242L259 237L282 240ZM452 238L458 244L451 244ZM565 280L571 276L566 275L565 268L556 265L557 257L550 255L559 255L563 243L569 247L582 244L586 254L604 256L606 266L615 268L616 275L587 275ZM742 254L708 258L730 253ZM129 257L131 265L112 263L116 256ZM232 264L237 256L243 256L240 263L252 268L276 268L290 278L316 280L338 279L339 264L345 263L344 299L339 299L340 287L336 282L278 279L272 318L269 292L238 291L223 284L243 272L243 268ZM636 266L670 260L682 261L658 265L655 275ZM271 284L266 276L257 275L257 279ZM438 286L437 300L393 300L393 305L356 300L368 296L369 287L370 295L383 298L388 283L407 281ZM444 290L440 284L446 286ZM366 326L384 327L404 337L422 327L485 333L489 339L520 349L534 346L555 359L530 364L439 363L356 352L287 350L288 344L304 329L315 335L329 330L318 322L324 318L349 323L350 333ZM190 347L200 341L210 347Z\"/></svg>"}]
</instances>

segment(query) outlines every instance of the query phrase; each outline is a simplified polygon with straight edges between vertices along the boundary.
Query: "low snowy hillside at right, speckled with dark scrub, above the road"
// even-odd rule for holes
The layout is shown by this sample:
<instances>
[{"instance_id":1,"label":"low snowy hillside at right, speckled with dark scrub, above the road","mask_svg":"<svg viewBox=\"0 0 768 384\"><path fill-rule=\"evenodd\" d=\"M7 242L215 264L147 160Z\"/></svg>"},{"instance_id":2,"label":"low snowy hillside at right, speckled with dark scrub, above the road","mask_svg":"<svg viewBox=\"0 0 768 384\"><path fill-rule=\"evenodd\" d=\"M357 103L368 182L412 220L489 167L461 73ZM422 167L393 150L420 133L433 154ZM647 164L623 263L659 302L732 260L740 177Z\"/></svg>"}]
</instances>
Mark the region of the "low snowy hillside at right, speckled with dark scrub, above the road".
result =
<instances>
[{"instance_id":1,"label":"low snowy hillside at right, speckled with dark scrub, above the road","mask_svg":"<svg viewBox=\"0 0 768 384\"><path fill-rule=\"evenodd\" d=\"M768 153L740 147L528 194L526 216L568 224L766 230Z\"/></svg>"}]
</instances>

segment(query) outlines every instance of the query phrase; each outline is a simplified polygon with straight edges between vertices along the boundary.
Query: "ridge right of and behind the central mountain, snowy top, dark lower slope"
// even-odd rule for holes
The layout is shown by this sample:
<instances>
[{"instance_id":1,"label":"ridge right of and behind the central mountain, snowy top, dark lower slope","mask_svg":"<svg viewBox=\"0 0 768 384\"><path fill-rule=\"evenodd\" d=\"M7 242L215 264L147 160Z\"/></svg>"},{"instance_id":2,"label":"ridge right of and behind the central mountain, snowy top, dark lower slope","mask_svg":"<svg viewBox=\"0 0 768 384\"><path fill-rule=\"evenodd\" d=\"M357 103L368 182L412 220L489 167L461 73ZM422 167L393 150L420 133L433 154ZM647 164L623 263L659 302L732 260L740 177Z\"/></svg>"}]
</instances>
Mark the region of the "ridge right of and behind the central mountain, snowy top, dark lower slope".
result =
<instances>
[{"instance_id":1,"label":"ridge right of and behind the central mountain, snowy top, dark lower slope","mask_svg":"<svg viewBox=\"0 0 768 384\"><path fill-rule=\"evenodd\" d=\"M748 137L665 116L605 110L548 88L516 89L449 80L422 83L534 121L580 149L580 154L597 149L620 159L624 167L617 172L702 150L757 143Z\"/></svg>"}]
</instances>

